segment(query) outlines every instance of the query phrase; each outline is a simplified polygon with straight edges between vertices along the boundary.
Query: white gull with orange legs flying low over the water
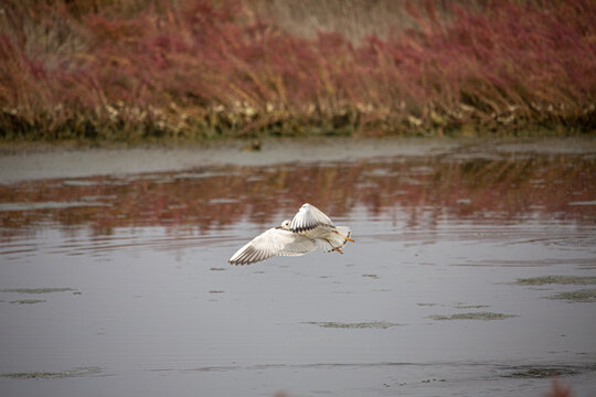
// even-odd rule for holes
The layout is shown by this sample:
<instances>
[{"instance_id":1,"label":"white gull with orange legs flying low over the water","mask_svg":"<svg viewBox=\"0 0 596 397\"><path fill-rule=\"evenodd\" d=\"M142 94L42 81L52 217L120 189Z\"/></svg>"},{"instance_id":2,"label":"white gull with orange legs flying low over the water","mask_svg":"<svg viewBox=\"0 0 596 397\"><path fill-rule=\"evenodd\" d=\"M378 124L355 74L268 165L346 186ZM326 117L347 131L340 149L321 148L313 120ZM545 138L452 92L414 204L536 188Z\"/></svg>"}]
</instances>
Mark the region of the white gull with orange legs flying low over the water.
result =
<instances>
[{"instance_id":1,"label":"white gull with orange legs flying low over the water","mask_svg":"<svg viewBox=\"0 0 596 397\"><path fill-rule=\"evenodd\" d=\"M294 218L281 222L256 236L230 258L231 265L251 265L274 256L300 256L318 247L328 253L343 254L350 238L350 227L336 226L322 211L306 203Z\"/></svg>"}]
</instances>

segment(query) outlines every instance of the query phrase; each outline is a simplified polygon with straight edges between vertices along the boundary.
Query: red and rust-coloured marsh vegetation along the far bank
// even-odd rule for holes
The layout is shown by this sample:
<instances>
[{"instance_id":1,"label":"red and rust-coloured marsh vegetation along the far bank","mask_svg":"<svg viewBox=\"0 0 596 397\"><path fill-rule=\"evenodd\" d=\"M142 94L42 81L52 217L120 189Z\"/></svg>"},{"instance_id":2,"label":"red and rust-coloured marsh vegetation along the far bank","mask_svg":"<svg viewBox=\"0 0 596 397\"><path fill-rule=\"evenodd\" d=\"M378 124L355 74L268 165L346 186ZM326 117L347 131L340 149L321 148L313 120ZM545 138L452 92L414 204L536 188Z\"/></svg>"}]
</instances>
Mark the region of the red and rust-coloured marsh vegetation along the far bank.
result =
<instances>
[{"instance_id":1,"label":"red and rust-coloured marsh vegetation along the far bank","mask_svg":"<svg viewBox=\"0 0 596 397\"><path fill-rule=\"evenodd\" d=\"M596 126L596 3L434 1L415 30L291 35L238 1L12 0L0 137L562 133ZM77 2L73 2L76 4ZM464 3L465 4L465 3ZM125 12L126 11L126 12Z\"/></svg>"}]
</instances>

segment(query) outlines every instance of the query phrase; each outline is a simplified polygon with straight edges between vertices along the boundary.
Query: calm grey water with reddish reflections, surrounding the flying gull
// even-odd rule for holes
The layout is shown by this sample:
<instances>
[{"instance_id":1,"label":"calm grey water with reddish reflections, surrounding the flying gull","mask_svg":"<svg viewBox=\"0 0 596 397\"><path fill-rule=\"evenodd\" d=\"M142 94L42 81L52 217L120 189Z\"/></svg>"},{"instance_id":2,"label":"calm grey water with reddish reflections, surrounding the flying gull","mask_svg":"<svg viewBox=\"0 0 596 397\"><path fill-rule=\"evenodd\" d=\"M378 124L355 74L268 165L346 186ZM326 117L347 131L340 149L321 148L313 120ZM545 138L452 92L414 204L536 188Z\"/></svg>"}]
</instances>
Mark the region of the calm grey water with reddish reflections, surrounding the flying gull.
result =
<instances>
[{"instance_id":1,"label":"calm grey water with reddish reflections, surrounding the flying gull","mask_svg":"<svg viewBox=\"0 0 596 397\"><path fill-rule=\"evenodd\" d=\"M593 396L596 151L513 149L10 180L0 391ZM304 202L344 255L227 265Z\"/></svg>"}]
</instances>

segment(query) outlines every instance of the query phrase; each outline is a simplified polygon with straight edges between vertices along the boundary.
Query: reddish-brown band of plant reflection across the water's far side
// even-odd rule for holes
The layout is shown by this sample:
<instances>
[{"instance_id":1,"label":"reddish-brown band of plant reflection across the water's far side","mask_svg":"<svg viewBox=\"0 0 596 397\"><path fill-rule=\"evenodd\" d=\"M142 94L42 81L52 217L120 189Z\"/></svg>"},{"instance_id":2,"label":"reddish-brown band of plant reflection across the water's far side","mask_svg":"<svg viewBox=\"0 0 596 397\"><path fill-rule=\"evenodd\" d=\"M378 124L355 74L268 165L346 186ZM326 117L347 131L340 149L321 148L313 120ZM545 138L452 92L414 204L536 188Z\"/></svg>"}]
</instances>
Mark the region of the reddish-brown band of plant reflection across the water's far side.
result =
<instances>
[{"instance_id":1,"label":"reddish-brown band of plant reflection across the water's far side","mask_svg":"<svg viewBox=\"0 0 596 397\"><path fill-rule=\"evenodd\" d=\"M450 154L316 165L230 167L129 178L49 180L0 186L4 235L55 223L115 227L182 226L206 232L240 219L265 225L317 203L334 216L408 213L407 226L440 217L539 217L592 224L596 160L582 155ZM68 208L70 211L62 211ZM35 211L36 210L36 211ZM285 214L285 215L284 215ZM10 232L7 232L10 229Z\"/></svg>"}]
</instances>

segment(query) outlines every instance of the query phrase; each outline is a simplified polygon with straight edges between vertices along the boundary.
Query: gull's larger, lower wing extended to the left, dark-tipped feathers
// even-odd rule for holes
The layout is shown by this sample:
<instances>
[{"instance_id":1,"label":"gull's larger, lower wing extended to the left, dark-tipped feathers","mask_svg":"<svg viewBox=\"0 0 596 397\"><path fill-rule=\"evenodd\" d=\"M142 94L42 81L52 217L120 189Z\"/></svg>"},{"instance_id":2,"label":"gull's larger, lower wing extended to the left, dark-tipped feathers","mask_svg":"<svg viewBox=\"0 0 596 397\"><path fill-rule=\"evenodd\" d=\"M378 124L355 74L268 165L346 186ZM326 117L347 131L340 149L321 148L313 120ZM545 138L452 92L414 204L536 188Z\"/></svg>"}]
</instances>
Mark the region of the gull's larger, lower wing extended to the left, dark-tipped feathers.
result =
<instances>
[{"instance_id":1,"label":"gull's larger, lower wing extended to the left, dark-tipped feathers","mask_svg":"<svg viewBox=\"0 0 596 397\"><path fill-rule=\"evenodd\" d=\"M256 236L230 258L231 265L251 265L274 256L299 256L312 253L317 243L294 232L270 228Z\"/></svg>"}]
</instances>

